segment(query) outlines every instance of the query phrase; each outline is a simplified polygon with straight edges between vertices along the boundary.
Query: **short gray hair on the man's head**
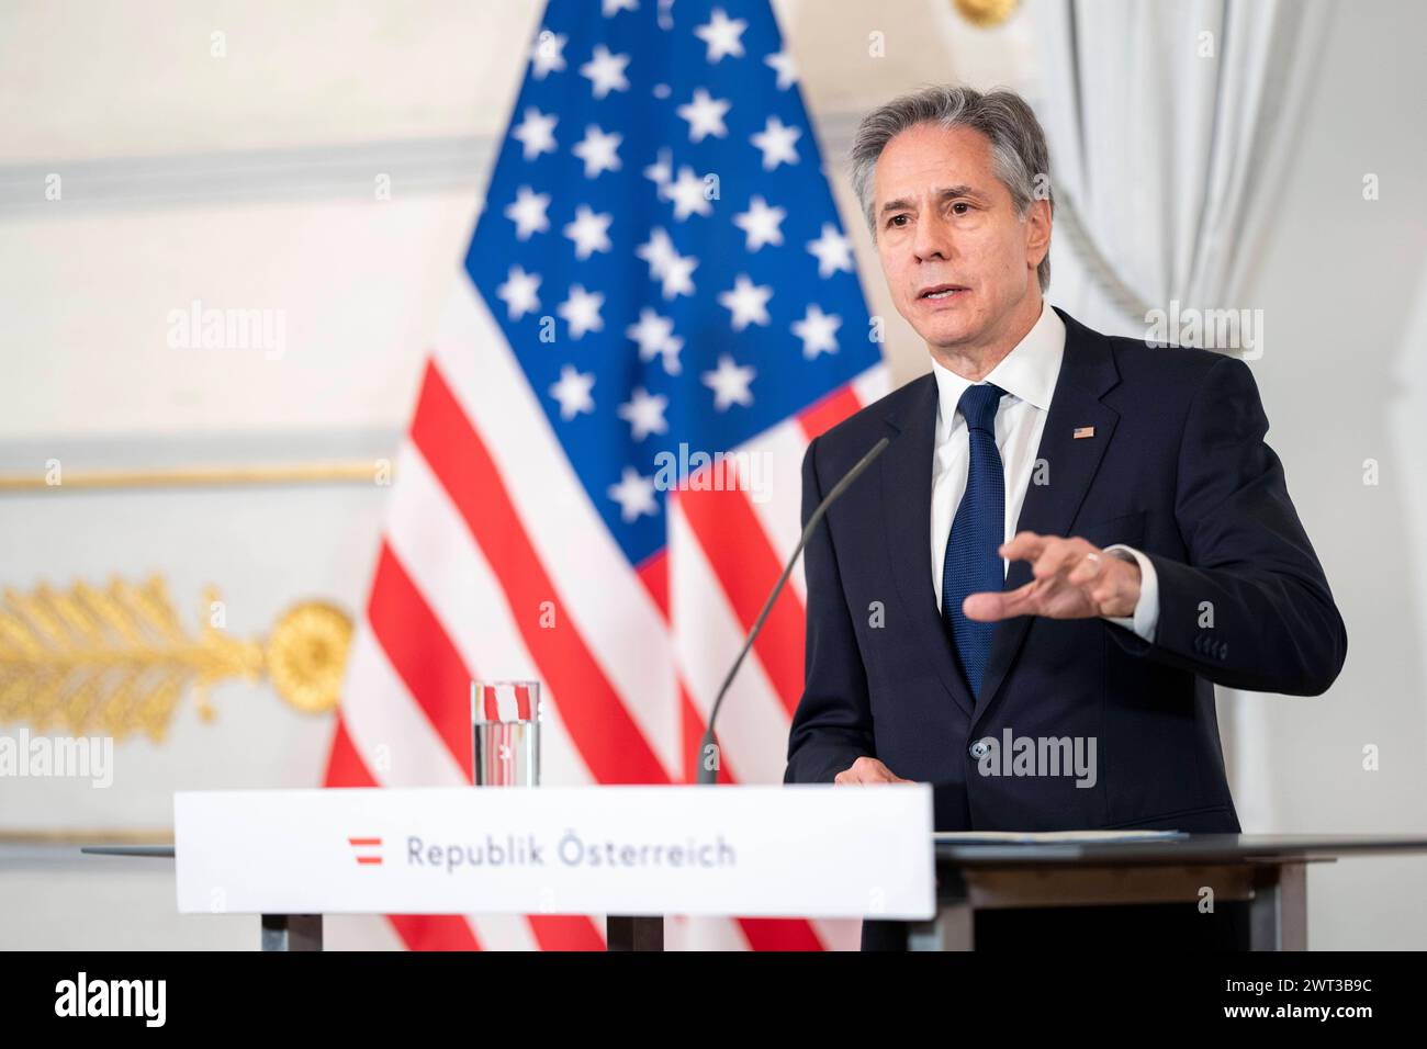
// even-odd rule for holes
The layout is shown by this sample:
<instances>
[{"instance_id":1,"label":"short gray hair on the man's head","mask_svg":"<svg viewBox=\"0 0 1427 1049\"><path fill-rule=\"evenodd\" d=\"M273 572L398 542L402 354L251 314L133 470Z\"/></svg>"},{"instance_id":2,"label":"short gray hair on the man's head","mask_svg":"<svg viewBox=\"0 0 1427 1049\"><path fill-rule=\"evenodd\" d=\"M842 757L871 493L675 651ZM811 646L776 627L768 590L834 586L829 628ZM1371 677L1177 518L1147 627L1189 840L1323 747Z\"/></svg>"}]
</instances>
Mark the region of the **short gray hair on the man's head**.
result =
<instances>
[{"instance_id":1,"label":"short gray hair on the man's head","mask_svg":"<svg viewBox=\"0 0 1427 1049\"><path fill-rule=\"evenodd\" d=\"M1015 91L982 94L970 87L923 87L893 98L862 118L852 140L852 188L876 240L876 216L872 214L872 180L882 150L902 131L918 124L972 127L990 140L996 177L1010 190L1016 214L1025 216L1032 201L1045 198L1055 213L1050 194L1050 151L1036 114ZM1050 253L1036 267L1043 293L1050 285Z\"/></svg>"}]
</instances>

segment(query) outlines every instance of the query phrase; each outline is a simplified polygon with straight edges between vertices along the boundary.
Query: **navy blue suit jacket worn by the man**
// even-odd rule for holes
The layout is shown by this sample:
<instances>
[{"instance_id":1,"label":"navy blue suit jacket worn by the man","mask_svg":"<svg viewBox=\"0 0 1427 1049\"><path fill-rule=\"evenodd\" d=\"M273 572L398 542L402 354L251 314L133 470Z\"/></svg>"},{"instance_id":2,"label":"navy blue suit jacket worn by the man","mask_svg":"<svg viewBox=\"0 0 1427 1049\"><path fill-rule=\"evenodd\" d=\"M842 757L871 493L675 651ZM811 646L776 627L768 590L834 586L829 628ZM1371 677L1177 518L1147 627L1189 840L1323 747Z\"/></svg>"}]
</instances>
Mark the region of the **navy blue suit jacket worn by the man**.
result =
<instances>
[{"instance_id":1,"label":"navy blue suit jacket worn by the man","mask_svg":"<svg viewBox=\"0 0 1427 1049\"><path fill-rule=\"evenodd\" d=\"M1104 619L1006 619L970 695L932 589L936 381L925 375L808 447L805 521L892 438L806 548L806 678L783 781L832 782L869 755L933 785L938 829L1239 832L1213 682L1317 695L1343 667L1343 618L1263 441L1249 367L1057 313L1066 347L1037 454L1047 482L1032 481L1017 531L1144 552L1159 575L1154 642ZM1075 438L1080 427L1095 435ZM1006 589L1030 578L1015 561ZM975 744L1007 729L1093 736L1095 785L985 775Z\"/></svg>"}]
</instances>

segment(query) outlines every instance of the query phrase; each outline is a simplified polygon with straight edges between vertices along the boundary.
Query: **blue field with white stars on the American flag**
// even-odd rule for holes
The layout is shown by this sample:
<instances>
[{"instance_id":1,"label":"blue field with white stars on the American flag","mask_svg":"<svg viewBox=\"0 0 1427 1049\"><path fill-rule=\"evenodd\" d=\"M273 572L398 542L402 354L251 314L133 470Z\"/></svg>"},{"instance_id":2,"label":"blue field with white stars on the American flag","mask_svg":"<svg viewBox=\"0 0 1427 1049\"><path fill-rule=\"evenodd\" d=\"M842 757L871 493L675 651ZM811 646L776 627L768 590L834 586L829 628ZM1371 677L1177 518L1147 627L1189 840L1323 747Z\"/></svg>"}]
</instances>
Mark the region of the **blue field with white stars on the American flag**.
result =
<instances>
[{"instance_id":1,"label":"blue field with white stars on the American flag","mask_svg":"<svg viewBox=\"0 0 1427 1049\"><path fill-rule=\"evenodd\" d=\"M733 448L879 347L768 0L552 0L528 54L467 271L639 564L659 452Z\"/></svg>"}]
</instances>

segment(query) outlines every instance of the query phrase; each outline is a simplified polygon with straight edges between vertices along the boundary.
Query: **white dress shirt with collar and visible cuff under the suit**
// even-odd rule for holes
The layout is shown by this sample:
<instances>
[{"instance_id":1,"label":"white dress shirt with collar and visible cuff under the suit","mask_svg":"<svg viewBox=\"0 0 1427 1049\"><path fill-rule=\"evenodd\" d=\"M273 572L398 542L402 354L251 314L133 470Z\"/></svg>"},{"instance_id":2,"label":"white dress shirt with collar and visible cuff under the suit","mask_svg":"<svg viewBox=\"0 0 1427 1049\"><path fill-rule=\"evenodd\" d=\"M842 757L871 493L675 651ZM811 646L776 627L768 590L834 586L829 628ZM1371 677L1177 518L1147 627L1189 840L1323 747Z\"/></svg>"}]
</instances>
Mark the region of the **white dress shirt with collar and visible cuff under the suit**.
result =
<instances>
[{"instance_id":1,"label":"white dress shirt with collar and visible cuff under the suit","mask_svg":"<svg viewBox=\"0 0 1427 1049\"><path fill-rule=\"evenodd\" d=\"M1060 375L1060 358L1065 355L1066 325L1060 315L1042 303L1040 318L1026 337L1006 354L1000 364L992 368L983 382L995 382L1006 392L996 411L996 448L1000 452L1002 468L1006 471L1006 527L1009 542L1020 521L1020 507L1026 501L1026 490L1040 450L1040 432L1050 412L1050 398L1055 395L1056 380ZM970 437L966 420L958 405L962 392L972 385L950 368L932 361L936 375L936 445L932 455L932 585L936 589L936 607L942 607L942 567L946 558L946 542L950 538L956 508L966 492L966 470L970 462ZM1134 614L1126 617L1102 617L1126 629L1134 631L1144 641L1154 641L1154 627L1159 622L1159 578L1154 565L1140 551L1114 544L1104 548L1122 559L1133 559L1140 567L1140 599ZM1010 561L1002 558L1003 572L1010 572ZM1003 577L1005 578L1005 577Z\"/></svg>"}]
</instances>

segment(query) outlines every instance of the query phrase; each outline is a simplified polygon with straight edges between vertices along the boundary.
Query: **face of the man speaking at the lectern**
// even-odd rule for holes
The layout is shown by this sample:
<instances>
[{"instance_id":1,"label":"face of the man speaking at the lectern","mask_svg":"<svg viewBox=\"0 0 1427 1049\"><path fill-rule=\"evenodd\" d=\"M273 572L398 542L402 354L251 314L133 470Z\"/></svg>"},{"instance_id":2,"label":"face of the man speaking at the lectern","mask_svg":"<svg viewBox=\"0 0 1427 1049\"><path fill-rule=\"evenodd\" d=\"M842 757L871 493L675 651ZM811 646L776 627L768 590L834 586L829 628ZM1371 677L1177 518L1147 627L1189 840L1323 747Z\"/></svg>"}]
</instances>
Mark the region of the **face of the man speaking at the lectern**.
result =
<instances>
[{"instance_id":1,"label":"face of the man speaking at the lectern","mask_svg":"<svg viewBox=\"0 0 1427 1049\"><path fill-rule=\"evenodd\" d=\"M1049 204L1025 220L996 177L990 140L970 127L918 124L878 158L873 221L898 313L930 350L993 343L1026 297L1050 238ZM1033 320L1033 318L1032 318Z\"/></svg>"}]
</instances>

